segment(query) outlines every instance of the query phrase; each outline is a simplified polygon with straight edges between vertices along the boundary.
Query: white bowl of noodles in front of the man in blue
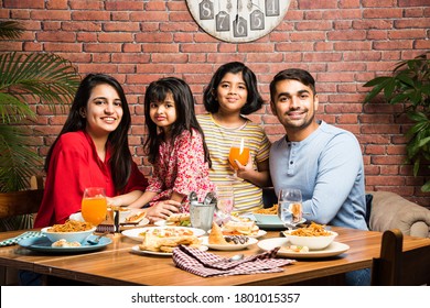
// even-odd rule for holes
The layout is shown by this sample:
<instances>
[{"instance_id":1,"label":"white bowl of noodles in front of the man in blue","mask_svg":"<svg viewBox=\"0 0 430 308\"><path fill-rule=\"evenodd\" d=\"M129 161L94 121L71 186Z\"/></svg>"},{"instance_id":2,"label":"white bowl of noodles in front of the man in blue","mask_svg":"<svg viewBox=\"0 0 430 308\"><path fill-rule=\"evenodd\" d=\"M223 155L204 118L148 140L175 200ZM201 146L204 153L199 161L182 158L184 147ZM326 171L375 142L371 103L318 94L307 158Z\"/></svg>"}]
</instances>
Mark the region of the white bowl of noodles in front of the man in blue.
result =
<instances>
[{"instance_id":1,"label":"white bowl of noodles in front of the man in blue","mask_svg":"<svg viewBox=\"0 0 430 308\"><path fill-rule=\"evenodd\" d=\"M327 248L337 237L336 232L325 230L324 226L312 222L310 226L284 231L283 235L297 246L307 246L310 251Z\"/></svg>"}]
</instances>

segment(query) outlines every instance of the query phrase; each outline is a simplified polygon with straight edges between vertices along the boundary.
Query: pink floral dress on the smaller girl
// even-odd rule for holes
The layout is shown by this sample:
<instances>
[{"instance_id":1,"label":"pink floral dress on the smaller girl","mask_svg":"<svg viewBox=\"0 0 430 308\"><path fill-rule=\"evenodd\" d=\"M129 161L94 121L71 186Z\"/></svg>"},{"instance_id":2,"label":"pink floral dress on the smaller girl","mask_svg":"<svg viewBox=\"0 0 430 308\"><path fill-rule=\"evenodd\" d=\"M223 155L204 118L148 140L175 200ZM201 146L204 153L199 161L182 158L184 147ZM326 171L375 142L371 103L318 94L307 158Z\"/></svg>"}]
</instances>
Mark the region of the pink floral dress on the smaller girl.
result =
<instances>
[{"instance_id":1,"label":"pink floral dress on the smaller girl","mask_svg":"<svg viewBox=\"0 0 430 308\"><path fill-rule=\"evenodd\" d=\"M147 190L159 194L151 205L169 200L173 191L185 195L186 201L191 191L203 200L208 191L215 190L209 179L208 164L204 161L203 139L197 131L193 130L192 134L184 131L175 140L160 144Z\"/></svg>"}]
</instances>

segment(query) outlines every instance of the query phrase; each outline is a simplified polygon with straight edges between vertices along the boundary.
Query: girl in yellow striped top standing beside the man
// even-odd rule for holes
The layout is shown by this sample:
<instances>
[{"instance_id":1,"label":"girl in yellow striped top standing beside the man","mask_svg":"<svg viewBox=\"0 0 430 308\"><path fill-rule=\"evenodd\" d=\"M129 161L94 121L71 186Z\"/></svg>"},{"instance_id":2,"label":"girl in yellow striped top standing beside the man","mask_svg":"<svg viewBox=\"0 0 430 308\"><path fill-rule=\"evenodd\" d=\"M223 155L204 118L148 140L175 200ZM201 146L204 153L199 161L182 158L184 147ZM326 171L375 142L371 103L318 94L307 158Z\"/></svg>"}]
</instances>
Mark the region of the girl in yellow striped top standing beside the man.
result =
<instances>
[{"instance_id":1,"label":"girl in yellow striped top standing beside the man","mask_svg":"<svg viewBox=\"0 0 430 308\"><path fill-rule=\"evenodd\" d=\"M264 103L255 74L243 63L227 63L216 70L203 99L208 113L197 116L197 120L211 154L211 180L215 185L230 180L235 212L261 208L261 187L270 185L270 142L262 128L245 117L259 110ZM239 179L229 179L235 172L228 162L229 148L241 138L249 147L249 160L246 164L236 161Z\"/></svg>"}]
</instances>

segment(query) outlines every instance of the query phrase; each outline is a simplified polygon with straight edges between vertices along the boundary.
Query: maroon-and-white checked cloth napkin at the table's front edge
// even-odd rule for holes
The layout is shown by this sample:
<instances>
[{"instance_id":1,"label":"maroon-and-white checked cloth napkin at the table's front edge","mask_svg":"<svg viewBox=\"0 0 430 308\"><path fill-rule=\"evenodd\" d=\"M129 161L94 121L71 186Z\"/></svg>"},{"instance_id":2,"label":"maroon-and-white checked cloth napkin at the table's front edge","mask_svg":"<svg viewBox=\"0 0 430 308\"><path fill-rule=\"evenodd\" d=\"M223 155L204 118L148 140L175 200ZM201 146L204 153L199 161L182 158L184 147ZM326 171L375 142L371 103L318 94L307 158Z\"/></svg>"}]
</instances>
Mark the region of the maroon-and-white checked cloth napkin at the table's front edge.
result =
<instances>
[{"instance_id":1,"label":"maroon-and-white checked cloth napkin at the table's front edge","mask_svg":"<svg viewBox=\"0 0 430 308\"><path fill-rule=\"evenodd\" d=\"M178 267L202 277L277 273L283 271L280 266L294 262L276 258L278 250L279 248L276 248L239 261L228 261L228 257L180 245L173 251L173 262Z\"/></svg>"}]
</instances>

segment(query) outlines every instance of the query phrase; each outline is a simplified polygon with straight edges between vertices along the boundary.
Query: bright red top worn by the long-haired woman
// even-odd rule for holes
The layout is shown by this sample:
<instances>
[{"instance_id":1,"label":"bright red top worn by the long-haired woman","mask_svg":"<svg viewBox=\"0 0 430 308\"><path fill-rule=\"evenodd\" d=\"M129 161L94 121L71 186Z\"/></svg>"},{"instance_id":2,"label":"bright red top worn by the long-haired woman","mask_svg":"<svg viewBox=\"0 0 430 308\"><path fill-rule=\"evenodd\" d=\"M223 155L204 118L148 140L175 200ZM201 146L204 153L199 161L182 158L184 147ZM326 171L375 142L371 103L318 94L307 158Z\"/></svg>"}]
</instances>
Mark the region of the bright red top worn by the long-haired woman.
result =
<instances>
[{"instance_id":1,"label":"bright red top worn by the long-haired woman","mask_svg":"<svg viewBox=\"0 0 430 308\"><path fill-rule=\"evenodd\" d=\"M132 190L144 190L148 180L132 163L131 175L122 191L116 191L106 151L105 162L97 155L93 139L84 131L63 134L52 152L45 193L34 221L35 228L64 223L72 213L80 210L86 187L105 187L107 197Z\"/></svg>"}]
</instances>

